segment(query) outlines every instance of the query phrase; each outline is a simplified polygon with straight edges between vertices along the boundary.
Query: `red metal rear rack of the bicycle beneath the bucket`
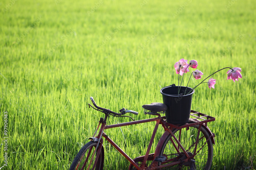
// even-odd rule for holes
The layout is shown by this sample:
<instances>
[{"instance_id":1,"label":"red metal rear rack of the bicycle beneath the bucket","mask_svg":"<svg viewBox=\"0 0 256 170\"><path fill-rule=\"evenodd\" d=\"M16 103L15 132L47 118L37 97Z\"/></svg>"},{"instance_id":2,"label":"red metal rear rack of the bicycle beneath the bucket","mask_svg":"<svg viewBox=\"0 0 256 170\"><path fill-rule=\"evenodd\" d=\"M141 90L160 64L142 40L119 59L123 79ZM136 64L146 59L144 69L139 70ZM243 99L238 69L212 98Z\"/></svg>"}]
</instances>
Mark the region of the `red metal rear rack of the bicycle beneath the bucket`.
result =
<instances>
[{"instance_id":1,"label":"red metal rear rack of the bicycle beneath the bucket","mask_svg":"<svg viewBox=\"0 0 256 170\"><path fill-rule=\"evenodd\" d=\"M174 124L169 124L169 125L176 129L182 129L184 127L190 127L190 126L200 125L200 124L205 124L205 126L207 126L207 122L215 121L215 117L212 117L194 110L191 110L190 117L195 117L195 118L189 118L189 121L190 122L193 121L194 123L186 123L186 124L183 124L182 126L174 125Z\"/></svg>"}]
</instances>

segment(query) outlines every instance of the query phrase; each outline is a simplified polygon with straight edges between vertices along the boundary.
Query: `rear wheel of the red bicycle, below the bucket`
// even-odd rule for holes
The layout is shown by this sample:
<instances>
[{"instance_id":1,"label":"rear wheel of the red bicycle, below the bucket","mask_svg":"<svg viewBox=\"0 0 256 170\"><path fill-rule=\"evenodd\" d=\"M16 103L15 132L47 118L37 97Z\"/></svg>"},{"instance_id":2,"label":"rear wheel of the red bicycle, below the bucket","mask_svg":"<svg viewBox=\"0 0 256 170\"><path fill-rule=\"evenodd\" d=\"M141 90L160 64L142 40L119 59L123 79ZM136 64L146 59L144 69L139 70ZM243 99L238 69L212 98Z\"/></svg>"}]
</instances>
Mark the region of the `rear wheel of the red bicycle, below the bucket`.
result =
<instances>
[{"instance_id":1,"label":"rear wheel of the red bicycle, below the bucket","mask_svg":"<svg viewBox=\"0 0 256 170\"><path fill-rule=\"evenodd\" d=\"M179 139L181 145L184 147L184 149L190 156L193 155L196 147L196 138L198 134L198 128L199 128L199 125L195 125L195 126L189 127L189 129L182 128L182 129L173 130L175 137ZM179 148L180 153L176 151L172 142L170 141L170 138L172 138L171 134L169 134L165 139L164 145L160 151L160 155L166 156L167 160L172 160L172 162L186 159L187 157L181 148ZM212 141L210 139L210 135L208 134L205 127L201 126L195 157L192 158L190 162L180 163L174 166L170 166L166 169L209 170L212 163L212 154L213 154L213 147L212 147ZM167 162L167 163L170 163L170 162Z\"/></svg>"}]
</instances>

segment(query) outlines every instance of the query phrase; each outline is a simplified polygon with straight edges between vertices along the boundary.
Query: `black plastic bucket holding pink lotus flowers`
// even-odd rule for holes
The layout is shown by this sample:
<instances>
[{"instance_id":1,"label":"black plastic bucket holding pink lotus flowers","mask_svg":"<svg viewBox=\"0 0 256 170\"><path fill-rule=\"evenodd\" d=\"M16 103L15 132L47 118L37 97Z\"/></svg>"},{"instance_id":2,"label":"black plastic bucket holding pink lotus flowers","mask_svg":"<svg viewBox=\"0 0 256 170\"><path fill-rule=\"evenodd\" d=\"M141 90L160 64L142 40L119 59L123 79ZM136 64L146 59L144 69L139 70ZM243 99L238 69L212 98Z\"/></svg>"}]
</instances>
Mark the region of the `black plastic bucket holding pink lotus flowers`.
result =
<instances>
[{"instance_id":1,"label":"black plastic bucket holding pink lotus flowers","mask_svg":"<svg viewBox=\"0 0 256 170\"><path fill-rule=\"evenodd\" d=\"M190 90L192 90L192 88L187 87L186 89L185 86L181 86L179 93L182 95L178 95L178 86L175 86L175 84L164 87L160 90L161 94L163 95L164 104L166 104L168 107L165 111L165 117L168 123L188 123L192 103L192 95L195 92L195 90L193 90L187 94ZM186 93L186 95L184 95L184 93Z\"/></svg>"}]
</instances>

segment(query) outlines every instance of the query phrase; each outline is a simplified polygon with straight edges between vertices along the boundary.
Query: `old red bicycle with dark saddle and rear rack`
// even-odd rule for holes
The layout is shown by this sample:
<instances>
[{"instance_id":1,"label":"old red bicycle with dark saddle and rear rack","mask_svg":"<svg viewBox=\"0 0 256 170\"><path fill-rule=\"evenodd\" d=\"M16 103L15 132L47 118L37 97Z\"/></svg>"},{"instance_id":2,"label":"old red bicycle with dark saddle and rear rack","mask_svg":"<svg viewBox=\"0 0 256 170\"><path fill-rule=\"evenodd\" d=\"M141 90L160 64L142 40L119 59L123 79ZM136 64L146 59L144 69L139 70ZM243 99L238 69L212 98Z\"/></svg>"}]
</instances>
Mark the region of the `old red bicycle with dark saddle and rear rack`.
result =
<instances>
[{"instance_id":1,"label":"old red bicycle with dark saddle and rear rack","mask_svg":"<svg viewBox=\"0 0 256 170\"><path fill-rule=\"evenodd\" d=\"M122 116L126 113L138 115L138 112L125 108L116 113L109 109L101 108L96 105L94 99L90 97L94 107L88 103L89 107L103 112L104 118L100 118L98 127L91 138L91 141L82 147L74 158L70 170L73 169L97 169L102 170L104 165L104 137L116 150L118 150L129 162L129 170L133 169L210 169L213 156L213 144L215 144L215 134L208 128L207 123L215 121L215 117L191 110L189 122L181 125L169 124L165 116L161 113L167 109L163 103L151 103L143 105L144 113L156 115L157 117L145 120L134 121L130 116ZM107 125L106 120L109 116L130 117L133 121ZM151 140L148 144L146 154L137 158L130 158L116 143L104 133L105 129L128 126L146 122L156 121ZM159 139L155 152L149 153L152 147L159 124L165 132ZM100 127L101 125L101 127ZM100 129L99 129L100 127ZM97 132L99 130L98 135ZM146 164L149 161L150 164Z\"/></svg>"}]
</instances>

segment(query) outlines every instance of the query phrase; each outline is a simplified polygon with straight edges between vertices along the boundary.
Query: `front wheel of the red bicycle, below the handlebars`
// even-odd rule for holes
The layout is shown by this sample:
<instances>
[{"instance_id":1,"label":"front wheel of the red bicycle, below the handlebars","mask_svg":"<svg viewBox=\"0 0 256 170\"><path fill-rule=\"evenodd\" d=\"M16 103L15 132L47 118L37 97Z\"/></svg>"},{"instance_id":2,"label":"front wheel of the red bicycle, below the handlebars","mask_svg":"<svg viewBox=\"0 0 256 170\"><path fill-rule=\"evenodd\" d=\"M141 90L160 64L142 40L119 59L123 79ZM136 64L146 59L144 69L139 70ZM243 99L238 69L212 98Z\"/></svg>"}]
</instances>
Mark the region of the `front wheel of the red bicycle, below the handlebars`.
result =
<instances>
[{"instance_id":1,"label":"front wheel of the red bicycle, below the handlebars","mask_svg":"<svg viewBox=\"0 0 256 170\"><path fill-rule=\"evenodd\" d=\"M94 142L94 141L90 141L90 142L86 143L86 145L84 145L82 147L82 149L76 155L69 170L87 170L88 167L89 167L89 169L92 169L93 165L95 163L96 155L99 152L98 150L96 150L96 152L93 156L93 153L95 151L97 143L98 142ZM92 156L93 156L93 159L92 159ZM90 162L91 162L91 164L90 164ZM102 170L103 164L104 164L104 148L102 146L102 148L100 150L100 156L98 158L98 161L96 162L96 166L94 169Z\"/></svg>"}]
</instances>

